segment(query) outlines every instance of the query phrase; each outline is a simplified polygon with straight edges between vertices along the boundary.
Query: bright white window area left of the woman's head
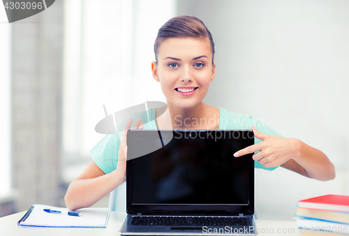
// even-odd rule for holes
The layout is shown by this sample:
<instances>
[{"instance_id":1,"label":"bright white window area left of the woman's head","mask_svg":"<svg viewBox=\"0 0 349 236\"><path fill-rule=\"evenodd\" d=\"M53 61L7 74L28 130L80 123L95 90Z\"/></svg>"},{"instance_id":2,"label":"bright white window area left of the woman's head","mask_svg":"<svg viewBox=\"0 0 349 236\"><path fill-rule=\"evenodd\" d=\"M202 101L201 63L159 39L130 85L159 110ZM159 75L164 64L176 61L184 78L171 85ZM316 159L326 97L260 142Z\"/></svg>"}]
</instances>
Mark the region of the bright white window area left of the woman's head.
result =
<instances>
[{"instance_id":1,"label":"bright white window area left of the woman's head","mask_svg":"<svg viewBox=\"0 0 349 236\"><path fill-rule=\"evenodd\" d=\"M174 0L65 1L65 162L90 161L104 135L95 126L144 101L165 100L152 78L158 28L174 16ZM81 158L81 159L82 159Z\"/></svg>"}]
</instances>

